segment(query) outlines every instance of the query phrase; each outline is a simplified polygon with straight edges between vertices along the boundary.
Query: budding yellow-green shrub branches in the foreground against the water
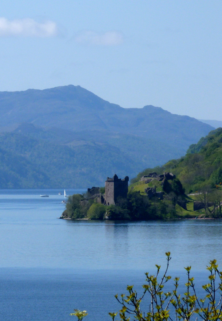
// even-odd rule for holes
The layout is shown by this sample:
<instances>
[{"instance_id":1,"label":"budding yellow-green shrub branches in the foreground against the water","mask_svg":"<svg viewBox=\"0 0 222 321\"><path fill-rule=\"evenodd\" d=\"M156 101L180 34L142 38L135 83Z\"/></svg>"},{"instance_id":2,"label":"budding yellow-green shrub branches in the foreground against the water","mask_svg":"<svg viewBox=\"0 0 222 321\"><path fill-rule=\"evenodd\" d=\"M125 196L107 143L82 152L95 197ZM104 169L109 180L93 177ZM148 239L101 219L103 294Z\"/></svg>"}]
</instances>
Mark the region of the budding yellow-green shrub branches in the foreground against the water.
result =
<instances>
[{"instance_id":1,"label":"budding yellow-green shrub branches in the foreground against the water","mask_svg":"<svg viewBox=\"0 0 222 321\"><path fill-rule=\"evenodd\" d=\"M171 280L168 268L171 260L170 252L166 252L167 266L160 276L160 265L156 265L155 274L145 273L146 283L142 286L143 293L138 295L133 285L127 286L127 295L115 295L117 301L121 304L119 318L122 321L129 321L130 317L134 321L174 321L197 320L201 317L202 321L222 320L222 272L218 270L216 260L211 260L207 270L210 272L208 283L202 286L205 296L201 299L197 297L194 278L191 277L191 266L185 268L187 281L185 282L185 292L181 294L178 291L179 278L174 278L174 284L171 291L164 290L165 285ZM168 285L169 287L169 285ZM147 297L148 295L148 297ZM143 311L142 302L148 302L148 310ZM86 311L79 311L81 313ZM112 321L115 320L118 312L110 312ZM75 315L75 314L72 314ZM75 315L78 317L78 315ZM78 321L82 319L78 318Z\"/></svg>"}]
</instances>

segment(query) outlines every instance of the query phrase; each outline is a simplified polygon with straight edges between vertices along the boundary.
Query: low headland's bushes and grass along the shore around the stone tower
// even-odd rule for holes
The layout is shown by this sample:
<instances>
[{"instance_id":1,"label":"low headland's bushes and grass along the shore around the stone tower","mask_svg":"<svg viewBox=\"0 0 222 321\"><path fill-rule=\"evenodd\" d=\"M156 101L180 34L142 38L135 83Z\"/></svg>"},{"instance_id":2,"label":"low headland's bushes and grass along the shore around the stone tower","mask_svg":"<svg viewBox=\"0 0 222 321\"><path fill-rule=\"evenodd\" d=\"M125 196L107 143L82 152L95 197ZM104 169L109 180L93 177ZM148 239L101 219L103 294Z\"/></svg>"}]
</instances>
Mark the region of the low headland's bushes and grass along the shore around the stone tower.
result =
<instances>
[{"instance_id":1,"label":"low headland's bushes and grass along the shore around the stone tower","mask_svg":"<svg viewBox=\"0 0 222 321\"><path fill-rule=\"evenodd\" d=\"M149 198L143 192L148 185L153 184L155 184L156 191L162 191L163 199L155 195ZM142 182L138 185L135 183L132 185L128 188L127 198L119 198L116 205L97 203L98 194L94 196L87 193L70 195L66 203L66 209L60 218L112 221L222 219L222 192L219 188L186 195L181 182L177 178L167 181L168 191L166 185L165 187L161 186L161 182L155 179L148 184ZM132 189L132 187L134 188ZM100 190L103 191L103 189Z\"/></svg>"}]
</instances>

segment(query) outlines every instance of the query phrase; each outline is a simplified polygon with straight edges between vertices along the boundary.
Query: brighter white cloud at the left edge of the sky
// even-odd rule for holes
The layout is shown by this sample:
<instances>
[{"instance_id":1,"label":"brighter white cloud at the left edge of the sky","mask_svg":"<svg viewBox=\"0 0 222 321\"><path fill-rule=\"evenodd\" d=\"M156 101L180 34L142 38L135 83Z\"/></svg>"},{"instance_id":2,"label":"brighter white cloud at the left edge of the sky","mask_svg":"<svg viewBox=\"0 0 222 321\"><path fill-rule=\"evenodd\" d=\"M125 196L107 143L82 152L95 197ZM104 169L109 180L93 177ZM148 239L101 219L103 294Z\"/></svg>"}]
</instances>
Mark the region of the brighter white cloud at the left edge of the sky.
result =
<instances>
[{"instance_id":1,"label":"brighter white cloud at the left edge of the sky","mask_svg":"<svg viewBox=\"0 0 222 321\"><path fill-rule=\"evenodd\" d=\"M53 21L39 23L31 18L10 21L0 17L0 36L52 37L57 33L57 26Z\"/></svg>"}]
</instances>

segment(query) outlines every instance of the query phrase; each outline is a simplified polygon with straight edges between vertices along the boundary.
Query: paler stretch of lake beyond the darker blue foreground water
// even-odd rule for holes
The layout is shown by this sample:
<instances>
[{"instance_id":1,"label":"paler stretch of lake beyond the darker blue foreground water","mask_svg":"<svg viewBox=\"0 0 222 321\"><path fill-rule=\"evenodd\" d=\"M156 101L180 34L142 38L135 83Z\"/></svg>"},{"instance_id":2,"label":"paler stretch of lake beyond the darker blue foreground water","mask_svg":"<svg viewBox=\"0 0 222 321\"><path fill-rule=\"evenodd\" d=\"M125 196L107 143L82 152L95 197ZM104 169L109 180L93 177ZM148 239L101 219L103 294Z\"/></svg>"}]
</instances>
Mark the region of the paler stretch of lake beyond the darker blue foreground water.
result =
<instances>
[{"instance_id":1,"label":"paler stretch of lake beyond the darker blue foreground water","mask_svg":"<svg viewBox=\"0 0 222 321\"><path fill-rule=\"evenodd\" d=\"M63 196L43 193L49 198L40 190L0 191L0 267L147 270L164 264L166 251L175 270L222 263L220 220L58 220Z\"/></svg>"}]
</instances>

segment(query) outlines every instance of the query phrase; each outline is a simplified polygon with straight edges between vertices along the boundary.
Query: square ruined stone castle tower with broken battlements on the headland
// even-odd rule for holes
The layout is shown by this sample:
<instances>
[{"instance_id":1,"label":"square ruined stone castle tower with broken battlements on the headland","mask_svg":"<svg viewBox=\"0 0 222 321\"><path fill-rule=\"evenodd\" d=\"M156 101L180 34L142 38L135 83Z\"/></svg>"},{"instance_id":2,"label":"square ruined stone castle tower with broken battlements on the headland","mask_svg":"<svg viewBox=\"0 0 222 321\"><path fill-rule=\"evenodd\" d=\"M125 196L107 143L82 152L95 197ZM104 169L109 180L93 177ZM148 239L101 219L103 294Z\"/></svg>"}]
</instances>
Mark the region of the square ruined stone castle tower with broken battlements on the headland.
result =
<instances>
[{"instance_id":1,"label":"square ruined stone castle tower with broken battlements on the headland","mask_svg":"<svg viewBox=\"0 0 222 321\"><path fill-rule=\"evenodd\" d=\"M105 181L105 201L104 205L115 205L118 197L127 197L128 181L126 176L124 179L118 178L115 174L113 178L107 177Z\"/></svg>"}]
</instances>

